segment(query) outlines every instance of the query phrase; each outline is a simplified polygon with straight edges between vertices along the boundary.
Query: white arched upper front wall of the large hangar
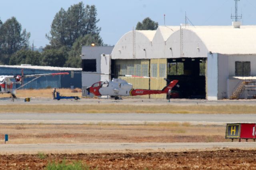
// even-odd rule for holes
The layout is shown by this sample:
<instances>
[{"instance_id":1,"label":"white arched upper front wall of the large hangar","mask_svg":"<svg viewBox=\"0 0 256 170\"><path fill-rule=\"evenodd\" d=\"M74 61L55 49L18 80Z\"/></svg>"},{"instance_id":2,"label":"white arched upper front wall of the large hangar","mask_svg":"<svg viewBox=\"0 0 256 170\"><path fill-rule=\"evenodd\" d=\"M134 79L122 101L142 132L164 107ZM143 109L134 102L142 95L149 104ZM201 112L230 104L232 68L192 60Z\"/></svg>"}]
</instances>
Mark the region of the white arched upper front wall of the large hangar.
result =
<instances>
[{"instance_id":1,"label":"white arched upper front wall of the large hangar","mask_svg":"<svg viewBox=\"0 0 256 170\"><path fill-rule=\"evenodd\" d=\"M172 33L164 41L160 30L156 31L152 42L141 32L134 31L135 48L133 49L133 32L128 32L116 43L112 59L158 59L180 57L180 30ZM207 57L208 49L195 32L182 29L184 57ZM170 47L172 50L170 50ZM143 50L145 49L145 51ZM135 58L133 58L133 50Z\"/></svg>"}]
</instances>

